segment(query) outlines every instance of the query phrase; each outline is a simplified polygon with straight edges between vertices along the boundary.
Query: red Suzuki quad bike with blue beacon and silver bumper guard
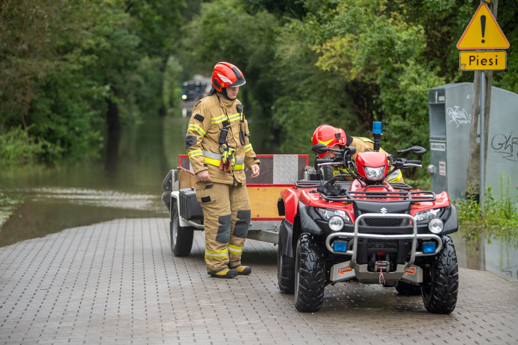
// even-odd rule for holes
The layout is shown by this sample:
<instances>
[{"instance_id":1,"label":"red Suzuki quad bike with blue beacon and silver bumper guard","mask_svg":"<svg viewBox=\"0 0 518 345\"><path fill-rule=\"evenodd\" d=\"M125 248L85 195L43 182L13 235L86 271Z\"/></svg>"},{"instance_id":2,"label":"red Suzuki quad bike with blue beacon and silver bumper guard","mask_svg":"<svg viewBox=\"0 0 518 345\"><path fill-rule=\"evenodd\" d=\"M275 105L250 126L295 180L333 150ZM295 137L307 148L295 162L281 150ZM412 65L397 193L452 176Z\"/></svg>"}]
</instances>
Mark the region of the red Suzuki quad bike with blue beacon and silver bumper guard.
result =
<instances>
[{"instance_id":1,"label":"red Suzuki quad bike with blue beacon and silver bumper guard","mask_svg":"<svg viewBox=\"0 0 518 345\"><path fill-rule=\"evenodd\" d=\"M356 162L351 160L354 147L332 150L332 160L315 160L315 168L341 165L350 175L321 181L308 167L305 180L281 192L279 289L295 293L295 308L309 312L322 307L327 284L395 283L399 294L421 294L429 312L451 313L458 293L457 257L448 236L457 231L455 206L446 192L386 182L396 169L421 166L400 154L426 150L414 146L387 161L378 152L381 122L373 124L372 134L375 152L359 153ZM312 150L329 148L317 144Z\"/></svg>"}]
</instances>

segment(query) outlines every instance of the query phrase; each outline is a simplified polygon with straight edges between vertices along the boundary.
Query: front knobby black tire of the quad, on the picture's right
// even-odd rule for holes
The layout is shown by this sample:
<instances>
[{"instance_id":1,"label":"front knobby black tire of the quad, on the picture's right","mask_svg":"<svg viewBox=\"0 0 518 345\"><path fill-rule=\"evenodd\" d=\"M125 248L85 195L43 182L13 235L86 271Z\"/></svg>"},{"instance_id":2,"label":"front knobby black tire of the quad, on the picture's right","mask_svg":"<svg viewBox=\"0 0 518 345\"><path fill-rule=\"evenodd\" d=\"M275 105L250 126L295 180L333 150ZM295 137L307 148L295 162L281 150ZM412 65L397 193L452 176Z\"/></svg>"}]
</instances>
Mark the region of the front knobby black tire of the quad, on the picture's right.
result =
<instances>
[{"instance_id":1,"label":"front knobby black tire of the quad, on the picture's right","mask_svg":"<svg viewBox=\"0 0 518 345\"><path fill-rule=\"evenodd\" d=\"M423 303L429 312L449 314L455 309L458 294L458 265L450 236L442 236L442 249L423 272Z\"/></svg>"}]
</instances>

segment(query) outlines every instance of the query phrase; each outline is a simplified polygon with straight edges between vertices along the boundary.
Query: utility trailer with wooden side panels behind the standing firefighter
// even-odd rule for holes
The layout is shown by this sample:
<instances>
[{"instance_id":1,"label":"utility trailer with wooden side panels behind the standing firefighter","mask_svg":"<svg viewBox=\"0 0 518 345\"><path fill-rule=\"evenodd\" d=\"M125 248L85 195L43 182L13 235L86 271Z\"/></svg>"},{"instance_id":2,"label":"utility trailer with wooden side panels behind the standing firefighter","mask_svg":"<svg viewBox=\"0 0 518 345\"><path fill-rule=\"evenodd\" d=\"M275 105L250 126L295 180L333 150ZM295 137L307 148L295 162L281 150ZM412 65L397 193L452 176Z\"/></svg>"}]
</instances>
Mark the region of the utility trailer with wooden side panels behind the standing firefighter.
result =
<instances>
[{"instance_id":1,"label":"utility trailer with wooden side panels behind the standing firefighter","mask_svg":"<svg viewBox=\"0 0 518 345\"><path fill-rule=\"evenodd\" d=\"M258 154L261 174L252 179L245 169L250 211L252 214L247 238L277 244L279 216L277 201L281 191L293 188L294 181L304 178L308 166L307 154ZM196 200L194 172L189 156L178 156L178 167L167 174L162 188L162 200L170 215L171 250L176 256L191 253L194 231L204 229L203 210Z\"/></svg>"}]
</instances>

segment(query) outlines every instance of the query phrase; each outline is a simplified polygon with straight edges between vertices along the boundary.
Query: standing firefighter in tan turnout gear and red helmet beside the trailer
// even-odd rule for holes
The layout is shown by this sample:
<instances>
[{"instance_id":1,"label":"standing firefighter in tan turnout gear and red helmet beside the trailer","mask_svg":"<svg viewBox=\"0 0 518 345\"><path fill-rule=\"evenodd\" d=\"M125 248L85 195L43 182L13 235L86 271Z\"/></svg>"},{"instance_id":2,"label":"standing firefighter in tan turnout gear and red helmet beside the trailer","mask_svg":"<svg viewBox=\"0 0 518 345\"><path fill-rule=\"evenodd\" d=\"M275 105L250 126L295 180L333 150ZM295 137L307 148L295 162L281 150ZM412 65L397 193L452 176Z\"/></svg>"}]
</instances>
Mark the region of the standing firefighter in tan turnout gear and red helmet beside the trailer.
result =
<instances>
[{"instance_id":1,"label":"standing firefighter in tan turnout gear and red helmet beside the trailer","mask_svg":"<svg viewBox=\"0 0 518 345\"><path fill-rule=\"evenodd\" d=\"M212 91L193 108L185 147L196 174L196 199L205 220L205 262L211 277L248 275L241 265L250 226L244 166L259 175L260 161L248 140L243 106L236 99L243 74L220 62L212 71Z\"/></svg>"}]
</instances>

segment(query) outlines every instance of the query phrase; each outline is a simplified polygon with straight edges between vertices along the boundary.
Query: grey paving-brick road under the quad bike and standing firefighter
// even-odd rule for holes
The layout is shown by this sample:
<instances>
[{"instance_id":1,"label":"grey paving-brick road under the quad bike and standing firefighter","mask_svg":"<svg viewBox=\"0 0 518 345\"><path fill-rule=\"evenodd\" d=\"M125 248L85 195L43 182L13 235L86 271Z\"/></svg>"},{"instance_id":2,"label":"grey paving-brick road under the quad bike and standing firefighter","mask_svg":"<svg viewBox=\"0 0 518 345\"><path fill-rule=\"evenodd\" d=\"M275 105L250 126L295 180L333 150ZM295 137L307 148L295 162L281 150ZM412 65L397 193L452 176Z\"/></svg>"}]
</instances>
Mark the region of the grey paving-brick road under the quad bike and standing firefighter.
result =
<instances>
[{"instance_id":1,"label":"grey paving-brick road under the quad bike and standing firefighter","mask_svg":"<svg viewBox=\"0 0 518 345\"><path fill-rule=\"evenodd\" d=\"M209 278L203 232L173 257L168 219L120 219L0 248L0 344L517 344L518 284L460 270L457 308L428 313L393 287L327 286L299 313L276 247L247 240L250 276Z\"/></svg>"}]
</instances>

